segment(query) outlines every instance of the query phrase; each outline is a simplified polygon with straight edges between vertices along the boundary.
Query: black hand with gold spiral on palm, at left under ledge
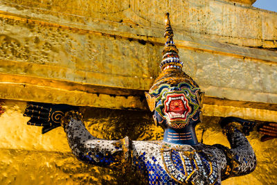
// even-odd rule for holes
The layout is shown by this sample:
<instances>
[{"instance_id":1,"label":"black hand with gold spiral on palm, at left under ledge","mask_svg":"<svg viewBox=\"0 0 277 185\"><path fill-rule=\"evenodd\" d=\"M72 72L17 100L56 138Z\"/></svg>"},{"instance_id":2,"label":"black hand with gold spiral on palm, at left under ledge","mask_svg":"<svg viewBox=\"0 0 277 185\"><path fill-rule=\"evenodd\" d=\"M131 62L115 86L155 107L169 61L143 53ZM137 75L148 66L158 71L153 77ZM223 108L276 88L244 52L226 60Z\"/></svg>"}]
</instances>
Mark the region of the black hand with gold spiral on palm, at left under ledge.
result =
<instances>
[{"instance_id":1,"label":"black hand with gold spiral on palm, at left under ledge","mask_svg":"<svg viewBox=\"0 0 277 185\"><path fill-rule=\"evenodd\" d=\"M64 104L28 103L23 115L30 117L28 125L42 126L42 134L44 134L59 127L62 116L73 109L78 109L78 107Z\"/></svg>"}]
</instances>

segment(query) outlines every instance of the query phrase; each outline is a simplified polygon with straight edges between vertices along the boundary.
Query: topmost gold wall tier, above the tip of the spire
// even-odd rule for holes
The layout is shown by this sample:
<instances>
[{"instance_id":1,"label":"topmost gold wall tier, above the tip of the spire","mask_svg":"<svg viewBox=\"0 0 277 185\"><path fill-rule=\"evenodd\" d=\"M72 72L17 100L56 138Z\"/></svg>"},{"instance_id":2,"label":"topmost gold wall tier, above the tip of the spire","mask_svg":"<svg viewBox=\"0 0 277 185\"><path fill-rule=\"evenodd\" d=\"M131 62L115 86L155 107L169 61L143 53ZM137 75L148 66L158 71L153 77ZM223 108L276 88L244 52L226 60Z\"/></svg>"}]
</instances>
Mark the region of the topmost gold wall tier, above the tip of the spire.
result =
<instances>
[{"instance_id":1,"label":"topmost gold wall tier, above the tip of the spire","mask_svg":"<svg viewBox=\"0 0 277 185\"><path fill-rule=\"evenodd\" d=\"M80 6L78 3L86 3ZM2 1L0 10L26 17L36 17L58 24L92 26L96 21L120 22L140 30L141 28L163 28L163 14L170 12L172 26L193 37L213 39L240 46L276 48L276 12L260 10L242 3L227 1L170 1L157 7L157 2L109 1L109 4L88 1L55 1L49 6L42 1ZM154 6L156 4L156 6ZM113 6L114 5L114 6ZM170 10L179 6L179 11ZM79 8L75 8L78 7ZM105 6L103 9L101 7ZM168 7L166 7L168 6ZM113 9L113 11L105 11ZM235 19L233 19L235 17ZM223 20L222 20L223 19ZM105 29L106 27L102 27ZM111 28L113 30L113 28ZM141 32L141 30L140 30Z\"/></svg>"}]
</instances>

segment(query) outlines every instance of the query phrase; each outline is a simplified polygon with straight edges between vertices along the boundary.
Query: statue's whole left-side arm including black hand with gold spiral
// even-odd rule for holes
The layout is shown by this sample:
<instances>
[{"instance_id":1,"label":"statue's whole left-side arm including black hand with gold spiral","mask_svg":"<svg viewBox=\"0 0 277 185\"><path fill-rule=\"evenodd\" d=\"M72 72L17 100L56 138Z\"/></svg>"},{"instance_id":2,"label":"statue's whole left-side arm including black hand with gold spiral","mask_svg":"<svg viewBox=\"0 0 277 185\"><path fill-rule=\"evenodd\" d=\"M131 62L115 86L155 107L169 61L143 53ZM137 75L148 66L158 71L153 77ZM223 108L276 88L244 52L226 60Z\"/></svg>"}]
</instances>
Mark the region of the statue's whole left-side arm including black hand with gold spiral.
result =
<instances>
[{"instance_id":1,"label":"statue's whole left-side arm including black hand with gold spiral","mask_svg":"<svg viewBox=\"0 0 277 185\"><path fill-rule=\"evenodd\" d=\"M42 134L63 126L75 157L98 166L120 168L129 164L129 139L109 141L97 139L84 127L78 107L62 104L28 103L24 116L28 125L42 127ZM123 168L124 169L124 168Z\"/></svg>"}]
</instances>

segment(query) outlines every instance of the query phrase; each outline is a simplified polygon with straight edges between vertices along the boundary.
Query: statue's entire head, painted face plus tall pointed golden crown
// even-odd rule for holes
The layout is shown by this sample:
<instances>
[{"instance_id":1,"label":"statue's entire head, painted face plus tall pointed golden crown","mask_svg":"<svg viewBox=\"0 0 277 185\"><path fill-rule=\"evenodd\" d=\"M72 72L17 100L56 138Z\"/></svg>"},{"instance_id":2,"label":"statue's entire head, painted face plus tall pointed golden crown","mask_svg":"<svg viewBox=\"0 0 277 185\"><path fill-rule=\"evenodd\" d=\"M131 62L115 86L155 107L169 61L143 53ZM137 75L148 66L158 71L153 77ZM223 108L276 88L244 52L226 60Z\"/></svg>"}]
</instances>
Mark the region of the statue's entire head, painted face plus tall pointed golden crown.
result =
<instances>
[{"instance_id":1,"label":"statue's entire head, painted face plus tall pointed golden crown","mask_svg":"<svg viewBox=\"0 0 277 185\"><path fill-rule=\"evenodd\" d=\"M149 93L145 93L154 121L164 129L183 129L202 120L204 93L197 83L182 71L178 49L173 42L169 14L166 13L166 46L163 49L161 73Z\"/></svg>"}]
</instances>

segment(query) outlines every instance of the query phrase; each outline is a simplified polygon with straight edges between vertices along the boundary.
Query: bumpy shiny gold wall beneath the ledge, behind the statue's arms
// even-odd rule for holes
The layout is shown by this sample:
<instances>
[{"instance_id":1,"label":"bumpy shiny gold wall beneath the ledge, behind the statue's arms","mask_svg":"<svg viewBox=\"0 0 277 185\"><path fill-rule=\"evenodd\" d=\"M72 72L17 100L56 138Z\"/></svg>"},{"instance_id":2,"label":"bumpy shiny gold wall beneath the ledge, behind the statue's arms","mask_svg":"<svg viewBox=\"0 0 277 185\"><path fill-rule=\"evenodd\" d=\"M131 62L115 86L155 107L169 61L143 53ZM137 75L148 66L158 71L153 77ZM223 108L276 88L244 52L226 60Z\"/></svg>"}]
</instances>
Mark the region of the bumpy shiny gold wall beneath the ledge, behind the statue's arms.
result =
<instances>
[{"instance_id":1,"label":"bumpy shiny gold wall beneath the ledge, behind the statue's arms","mask_svg":"<svg viewBox=\"0 0 277 185\"><path fill-rule=\"evenodd\" d=\"M22 116L25 102L6 100L6 112L0 116L0 184L134 184L139 183L134 173L122 175L118 171L82 164L71 154L66 135L61 127L41 134L41 127L26 125ZM149 112L87 108L84 112L88 130L103 139L132 140L162 139L161 127L156 127ZM197 127L200 141L204 143L228 141L217 124L219 117L204 116ZM275 184L276 140L260 143L257 132L248 139L256 152L258 166L250 175L227 179L223 184Z\"/></svg>"}]
</instances>

